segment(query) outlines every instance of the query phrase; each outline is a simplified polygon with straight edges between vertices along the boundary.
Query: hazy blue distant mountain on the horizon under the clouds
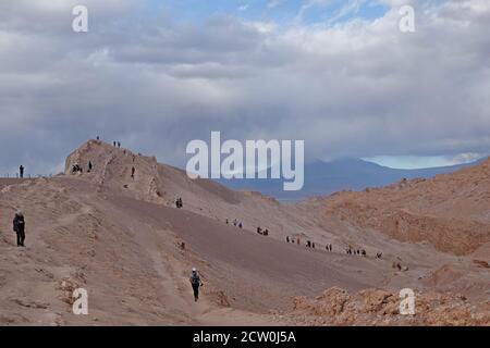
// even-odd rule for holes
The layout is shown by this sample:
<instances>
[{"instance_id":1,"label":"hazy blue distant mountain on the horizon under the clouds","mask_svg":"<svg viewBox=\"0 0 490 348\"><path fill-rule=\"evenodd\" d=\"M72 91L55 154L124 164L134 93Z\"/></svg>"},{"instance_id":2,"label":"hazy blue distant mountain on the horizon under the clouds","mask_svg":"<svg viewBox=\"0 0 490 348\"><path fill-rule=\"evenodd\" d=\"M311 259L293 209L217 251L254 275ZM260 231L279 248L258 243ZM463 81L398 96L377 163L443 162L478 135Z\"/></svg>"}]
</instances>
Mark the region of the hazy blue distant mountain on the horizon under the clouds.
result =
<instances>
[{"instance_id":1,"label":"hazy blue distant mountain on the horizon under the clouds","mask_svg":"<svg viewBox=\"0 0 490 348\"><path fill-rule=\"evenodd\" d=\"M305 185L299 191L284 191L282 179L219 179L235 190L259 191L279 200L299 200L314 196L327 196L341 190L363 190L396 183L402 178L430 178L437 174L455 172L475 162L418 170L396 170L360 159L339 159L330 162L315 161L305 164Z\"/></svg>"}]
</instances>

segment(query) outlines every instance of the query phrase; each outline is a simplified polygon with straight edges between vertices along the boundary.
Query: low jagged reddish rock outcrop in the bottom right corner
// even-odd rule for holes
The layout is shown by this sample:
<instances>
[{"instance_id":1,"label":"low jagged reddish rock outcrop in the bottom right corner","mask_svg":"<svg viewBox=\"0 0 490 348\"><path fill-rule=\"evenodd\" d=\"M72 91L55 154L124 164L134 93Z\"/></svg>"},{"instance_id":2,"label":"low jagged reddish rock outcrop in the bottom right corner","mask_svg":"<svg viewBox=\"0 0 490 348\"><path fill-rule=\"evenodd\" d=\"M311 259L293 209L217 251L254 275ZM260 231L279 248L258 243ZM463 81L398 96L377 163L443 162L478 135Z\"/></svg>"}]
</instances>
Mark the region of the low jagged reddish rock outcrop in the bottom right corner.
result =
<instances>
[{"instance_id":1,"label":"low jagged reddish rock outcrop in the bottom right corner","mask_svg":"<svg viewBox=\"0 0 490 348\"><path fill-rule=\"evenodd\" d=\"M490 302L470 303L464 296L416 293L415 314L402 314L402 298L380 289L348 294L330 288L316 299L296 297L291 320L307 325L490 325Z\"/></svg>"}]
</instances>

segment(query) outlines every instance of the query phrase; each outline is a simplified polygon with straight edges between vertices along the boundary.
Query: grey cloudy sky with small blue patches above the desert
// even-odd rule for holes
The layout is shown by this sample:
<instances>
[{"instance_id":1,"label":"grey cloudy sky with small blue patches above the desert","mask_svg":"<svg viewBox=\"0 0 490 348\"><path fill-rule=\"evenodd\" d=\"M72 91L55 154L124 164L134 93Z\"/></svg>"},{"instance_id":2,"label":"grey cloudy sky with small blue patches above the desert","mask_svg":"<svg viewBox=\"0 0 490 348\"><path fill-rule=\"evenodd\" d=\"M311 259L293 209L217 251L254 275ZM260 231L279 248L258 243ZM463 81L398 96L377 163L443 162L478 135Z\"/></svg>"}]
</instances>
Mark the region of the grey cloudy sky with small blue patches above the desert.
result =
<instances>
[{"instance_id":1,"label":"grey cloudy sky with small blue patches above the desert","mask_svg":"<svg viewBox=\"0 0 490 348\"><path fill-rule=\"evenodd\" d=\"M488 154L489 33L488 0L1 0L0 174L97 135L180 166L211 130L307 160Z\"/></svg>"}]
</instances>

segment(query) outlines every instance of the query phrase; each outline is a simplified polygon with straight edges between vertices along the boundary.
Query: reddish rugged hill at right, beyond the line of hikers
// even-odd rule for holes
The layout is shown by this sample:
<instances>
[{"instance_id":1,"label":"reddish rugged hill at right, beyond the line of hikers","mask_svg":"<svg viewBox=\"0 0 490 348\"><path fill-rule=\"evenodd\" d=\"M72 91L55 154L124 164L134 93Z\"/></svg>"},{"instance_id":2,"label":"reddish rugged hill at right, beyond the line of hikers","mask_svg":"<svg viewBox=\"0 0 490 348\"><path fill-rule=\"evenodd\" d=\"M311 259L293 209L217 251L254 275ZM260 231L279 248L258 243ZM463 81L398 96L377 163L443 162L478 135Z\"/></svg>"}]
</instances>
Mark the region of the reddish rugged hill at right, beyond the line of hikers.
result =
<instances>
[{"instance_id":1,"label":"reddish rugged hill at right, beyond the line of hikers","mask_svg":"<svg viewBox=\"0 0 490 348\"><path fill-rule=\"evenodd\" d=\"M402 241L428 241L443 252L488 256L490 250L490 160L432 179L342 191L316 204L324 208L327 219L336 216Z\"/></svg>"}]
</instances>

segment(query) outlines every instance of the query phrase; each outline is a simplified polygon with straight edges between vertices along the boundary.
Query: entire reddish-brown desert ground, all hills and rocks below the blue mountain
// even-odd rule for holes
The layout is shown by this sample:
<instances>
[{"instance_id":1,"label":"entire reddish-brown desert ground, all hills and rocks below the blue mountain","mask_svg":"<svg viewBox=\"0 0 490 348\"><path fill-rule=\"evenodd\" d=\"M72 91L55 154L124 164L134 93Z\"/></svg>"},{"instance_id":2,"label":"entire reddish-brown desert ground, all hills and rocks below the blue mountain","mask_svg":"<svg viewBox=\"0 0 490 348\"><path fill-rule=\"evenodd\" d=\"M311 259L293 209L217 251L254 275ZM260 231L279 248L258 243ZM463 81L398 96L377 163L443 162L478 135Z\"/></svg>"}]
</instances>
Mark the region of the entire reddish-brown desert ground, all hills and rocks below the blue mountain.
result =
<instances>
[{"instance_id":1,"label":"entire reddish-brown desert ground, all hills and rocks below the blue mountain","mask_svg":"<svg viewBox=\"0 0 490 348\"><path fill-rule=\"evenodd\" d=\"M282 206L90 140L64 174L0 179L0 324L489 325L489 166ZM72 311L76 288L88 315ZM402 288L415 315L399 312Z\"/></svg>"}]
</instances>

